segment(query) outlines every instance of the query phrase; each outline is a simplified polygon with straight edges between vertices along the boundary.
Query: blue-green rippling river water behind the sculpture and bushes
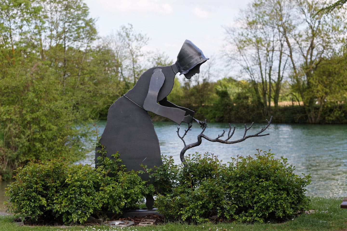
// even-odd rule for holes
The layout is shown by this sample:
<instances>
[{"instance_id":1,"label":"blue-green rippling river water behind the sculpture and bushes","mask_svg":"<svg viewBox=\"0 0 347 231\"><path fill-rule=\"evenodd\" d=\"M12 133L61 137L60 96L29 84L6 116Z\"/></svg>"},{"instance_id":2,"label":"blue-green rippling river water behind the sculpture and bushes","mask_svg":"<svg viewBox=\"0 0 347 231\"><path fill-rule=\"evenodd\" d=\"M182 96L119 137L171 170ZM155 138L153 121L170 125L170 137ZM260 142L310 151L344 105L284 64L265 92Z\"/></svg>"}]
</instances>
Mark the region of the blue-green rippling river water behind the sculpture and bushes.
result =
<instances>
[{"instance_id":1,"label":"blue-green rippling river water behind the sculpture and bushes","mask_svg":"<svg viewBox=\"0 0 347 231\"><path fill-rule=\"evenodd\" d=\"M102 134L106 121L99 121L99 133ZM234 136L230 140L242 138L244 124L236 125ZM249 126L250 124L247 124ZM247 132L254 134L261 130L266 123L256 123ZM180 163L179 153L183 148L183 142L177 136L177 127L183 135L187 129L186 124L178 126L173 122L154 122L158 135L160 150L163 155L173 156L175 163ZM208 123L205 135L216 138L229 126L227 123ZM91 125L90 130L93 130ZM194 124L192 131L185 137L187 144L196 142L201 128ZM189 149L187 154L199 152L214 153L223 162L237 155L248 156L257 153L256 149L275 154L276 158L284 156L288 163L295 166L297 175L311 174L311 184L306 187L308 196L347 196L347 125L311 125L311 124L271 124L264 133L268 136L251 137L237 144L221 144L202 140L202 144ZM85 145L91 150L79 163L91 163L94 160L94 151L91 143ZM0 203L2 204L3 190L6 182L0 185ZM1 212L1 210L0 210Z\"/></svg>"}]
</instances>

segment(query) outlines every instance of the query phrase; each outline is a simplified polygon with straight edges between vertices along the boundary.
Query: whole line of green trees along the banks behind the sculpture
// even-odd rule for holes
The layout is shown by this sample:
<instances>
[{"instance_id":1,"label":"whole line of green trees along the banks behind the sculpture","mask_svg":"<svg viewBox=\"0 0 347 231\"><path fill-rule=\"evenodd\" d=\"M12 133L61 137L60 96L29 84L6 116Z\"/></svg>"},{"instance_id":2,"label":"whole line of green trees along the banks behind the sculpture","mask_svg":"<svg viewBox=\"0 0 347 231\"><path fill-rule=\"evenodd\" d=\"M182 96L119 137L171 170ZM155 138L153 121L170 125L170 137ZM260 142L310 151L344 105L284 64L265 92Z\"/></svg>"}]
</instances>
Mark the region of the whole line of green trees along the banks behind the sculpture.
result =
<instances>
[{"instance_id":1,"label":"whole line of green trees along the banks behind the sculpture","mask_svg":"<svg viewBox=\"0 0 347 231\"><path fill-rule=\"evenodd\" d=\"M322 7L253 1L225 27L223 59L238 74L211 81L206 63L169 100L215 122L347 123L345 11L314 16ZM130 24L99 37L83 0L0 0L0 175L29 159L80 159L83 124L105 119L147 68L174 62L145 52L148 41Z\"/></svg>"}]
</instances>

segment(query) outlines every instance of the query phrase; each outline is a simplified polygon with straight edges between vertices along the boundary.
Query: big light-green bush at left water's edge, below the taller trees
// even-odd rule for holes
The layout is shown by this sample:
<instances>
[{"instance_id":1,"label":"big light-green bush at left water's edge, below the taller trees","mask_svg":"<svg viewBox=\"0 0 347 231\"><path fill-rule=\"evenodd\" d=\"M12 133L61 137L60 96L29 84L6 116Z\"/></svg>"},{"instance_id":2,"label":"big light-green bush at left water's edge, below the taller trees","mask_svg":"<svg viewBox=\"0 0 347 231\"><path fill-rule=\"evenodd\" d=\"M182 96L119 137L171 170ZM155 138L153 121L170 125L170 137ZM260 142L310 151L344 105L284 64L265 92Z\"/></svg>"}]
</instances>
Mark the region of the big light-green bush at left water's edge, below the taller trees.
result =
<instances>
[{"instance_id":1,"label":"big light-green bush at left water's edge, below the taller trees","mask_svg":"<svg viewBox=\"0 0 347 231\"><path fill-rule=\"evenodd\" d=\"M87 118L72 110L73 100L63 96L52 70L37 65L28 75L29 66L24 72L15 69L0 78L0 176L10 179L12 170L29 159L83 158L82 120Z\"/></svg>"}]
</instances>

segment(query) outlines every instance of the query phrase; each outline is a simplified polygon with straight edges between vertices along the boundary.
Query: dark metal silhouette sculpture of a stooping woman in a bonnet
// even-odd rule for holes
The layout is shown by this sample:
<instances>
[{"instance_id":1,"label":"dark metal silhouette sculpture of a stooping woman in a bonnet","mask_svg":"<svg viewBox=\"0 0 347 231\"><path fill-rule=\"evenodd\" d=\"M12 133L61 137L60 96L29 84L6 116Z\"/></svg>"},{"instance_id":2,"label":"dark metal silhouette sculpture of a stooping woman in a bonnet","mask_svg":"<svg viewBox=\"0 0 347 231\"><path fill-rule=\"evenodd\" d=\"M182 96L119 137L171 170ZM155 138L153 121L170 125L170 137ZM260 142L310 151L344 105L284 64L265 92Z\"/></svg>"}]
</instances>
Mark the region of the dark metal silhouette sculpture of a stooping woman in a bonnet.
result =
<instances>
[{"instance_id":1,"label":"dark metal silhouette sculpture of a stooping woman in a bonnet","mask_svg":"<svg viewBox=\"0 0 347 231\"><path fill-rule=\"evenodd\" d=\"M118 98L108 110L107 123L100 139L100 144L107 152L106 157L111 159L111 155L118 151L127 170L143 170L141 164L148 168L162 165L158 137L147 111L169 118L179 125L194 120L203 127L204 122L194 118L193 110L171 103L167 96L178 72L191 79L200 72L200 65L207 60L197 46L186 40L176 63L145 71L135 86ZM95 163L101 155L98 153L100 149L100 146L96 147ZM142 174L141 178L149 180L148 174ZM152 196L146 197L148 208L153 207L153 202Z\"/></svg>"}]
</instances>

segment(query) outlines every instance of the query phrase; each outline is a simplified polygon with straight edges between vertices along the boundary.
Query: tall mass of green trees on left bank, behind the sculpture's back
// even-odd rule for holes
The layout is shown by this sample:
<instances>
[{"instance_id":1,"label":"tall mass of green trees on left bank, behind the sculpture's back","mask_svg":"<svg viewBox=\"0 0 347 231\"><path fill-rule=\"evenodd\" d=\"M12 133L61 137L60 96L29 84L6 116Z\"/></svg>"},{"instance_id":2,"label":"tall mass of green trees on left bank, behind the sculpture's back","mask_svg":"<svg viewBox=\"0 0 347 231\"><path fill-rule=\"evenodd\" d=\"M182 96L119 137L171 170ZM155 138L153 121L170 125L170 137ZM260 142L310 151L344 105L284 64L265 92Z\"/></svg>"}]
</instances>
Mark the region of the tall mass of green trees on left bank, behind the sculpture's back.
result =
<instances>
[{"instance_id":1,"label":"tall mass of green trees on left bank, behind the sculpture's back","mask_svg":"<svg viewBox=\"0 0 347 231\"><path fill-rule=\"evenodd\" d=\"M90 116L81 105L95 94L86 4L3 0L0 15L0 175L30 158L78 160Z\"/></svg>"}]
</instances>

